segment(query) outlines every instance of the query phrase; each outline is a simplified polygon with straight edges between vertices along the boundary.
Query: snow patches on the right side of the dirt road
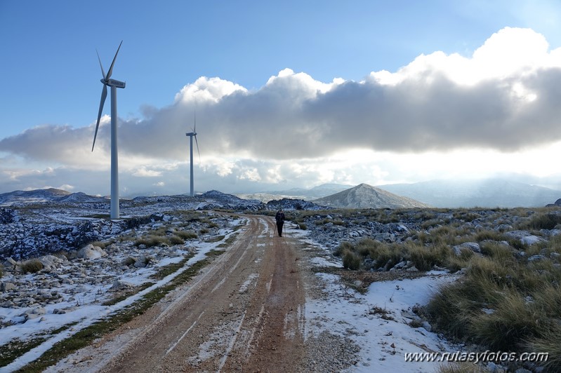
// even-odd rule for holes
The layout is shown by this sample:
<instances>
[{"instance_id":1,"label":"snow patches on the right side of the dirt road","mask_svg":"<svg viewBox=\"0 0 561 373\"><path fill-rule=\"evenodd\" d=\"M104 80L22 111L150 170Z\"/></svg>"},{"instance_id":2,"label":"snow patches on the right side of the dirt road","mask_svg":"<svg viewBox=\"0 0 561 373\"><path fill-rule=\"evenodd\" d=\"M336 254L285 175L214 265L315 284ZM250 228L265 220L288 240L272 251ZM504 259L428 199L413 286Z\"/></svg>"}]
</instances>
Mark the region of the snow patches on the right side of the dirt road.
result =
<instances>
[{"instance_id":1,"label":"snow patches on the right side of the dirt road","mask_svg":"<svg viewBox=\"0 0 561 373\"><path fill-rule=\"evenodd\" d=\"M307 231L288 233L317 245L305 238ZM317 266L342 267L341 260L328 252L312 261ZM359 361L349 372L435 372L439 366L436 362L406 361L406 353L451 353L460 347L428 331L430 325L426 323L424 327L409 326L411 320L418 320L412 308L427 304L440 285L456 280L457 276L446 271L430 271L426 275L374 282L365 294L360 294L342 285L339 276L317 273L324 283L325 297L306 301L306 337L329 330L354 341L360 347Z\"/></svg>"}]
</instances>

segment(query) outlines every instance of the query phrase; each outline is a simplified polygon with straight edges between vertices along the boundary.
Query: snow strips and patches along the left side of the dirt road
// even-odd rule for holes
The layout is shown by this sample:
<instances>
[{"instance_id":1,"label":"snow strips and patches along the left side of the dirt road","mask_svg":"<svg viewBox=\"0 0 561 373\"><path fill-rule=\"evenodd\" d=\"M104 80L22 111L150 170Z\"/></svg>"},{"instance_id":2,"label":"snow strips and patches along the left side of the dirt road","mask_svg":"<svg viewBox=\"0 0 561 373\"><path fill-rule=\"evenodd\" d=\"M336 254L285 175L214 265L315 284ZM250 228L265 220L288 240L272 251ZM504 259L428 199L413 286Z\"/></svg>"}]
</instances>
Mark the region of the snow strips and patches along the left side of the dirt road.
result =
<instances>
[{"instance_id":1,"label":"snow strips and patches along the left side of the dirt road","mask_svg":"<svg viewBox=\"0 0 561 373\"><path fill-rule=\"evenodd\" d=\"M109 283L81 283L80 285L63 285L63 287L67 287L66 293L72 294L68 297L65 297L63 301L60 301L55 304L48 304L44 306L44 310L41 311L41 315L36 318L29 318L25 320L25 310L22 308L6 308L0 306L0 320L3 323L13 323L13 325L4 326L0 329L0 346L4 346L8 344L10 341L14 341L19 339L20 341L25 341L27 339L37 338L41 335L48 335L53 330L58 330L60 327L65 325L72 325L67 330L59 332L55 334L53 337L48 338L42 344L33 348L25 355L22 355L20 358L13 361L11 364L6 365L5 367L0 367L0 373L2 372L12 372L15 369L19 369L20 367L25 366L29 362L32 362L39 358L41 354L45 351L48 351L54 344L58 341L62 341L67 337L72 336L79 330L92 325L93 323L103 320L110 316L112 313L115 313L130 304L133 304L135 301L138 301L142 298L147 292L154 290L157 287L161 287L169 283L173 278L176 278L180 273L186 271L190 268L194 263L199 262L200 260L206 257L206 253L216 249L218 245L223 243L227 240L233 233L232 226L238 226L239 224L243 224L244 219L232 219L230 221L230 225L220 229L218 231L218 235L224 236L224 238L220 241L213 242L213 243L205 243L199 241L196 244L190 244L189 250L181 250L176 248L175 254L173 257L167 257L166 259L162 259L153 266L149 266L146 268L136 269L134 271L126 271L126 273L117 274L117 273L103 273L106 277L113 278L113 281ZM187 247L185 247L187 249ZM157 281L154 283L154 280L150 278L157 270L163 266L167 266L169 264L178 263L185 258L185 255L188 255L190 252L194 250L194 255L187 260L185 265L182 269L172 273L169 276ZM115 257L112 257L111 260L114 262L123 262L126 258L124 253L121 253ZM95 259L93 261L95 263ZM94 264L95 266L95 264ZM107 271L107 268L104 269ZM122 271L121 271L122 272ZM23 281L27 280L27 283L33 284L34 283L34 274L27 274ZM2 278L2 280L9 280L7 278ZM147 287L145 290L134 294L131 297L127 297L123 301L119 301L117 304L113 304L111 306L103 306L103 302L107 299L112 297L112 292L110 288L116 283L124 283L126 285L142 285L144 283L154 283L150 287ZM72 291L70 287L74 287L74 289L79 291ZM65 293L65 289L57 289L58 292ZM66 310L65 313L59 313L55 310Z\"/></svg>"}]
</instances>

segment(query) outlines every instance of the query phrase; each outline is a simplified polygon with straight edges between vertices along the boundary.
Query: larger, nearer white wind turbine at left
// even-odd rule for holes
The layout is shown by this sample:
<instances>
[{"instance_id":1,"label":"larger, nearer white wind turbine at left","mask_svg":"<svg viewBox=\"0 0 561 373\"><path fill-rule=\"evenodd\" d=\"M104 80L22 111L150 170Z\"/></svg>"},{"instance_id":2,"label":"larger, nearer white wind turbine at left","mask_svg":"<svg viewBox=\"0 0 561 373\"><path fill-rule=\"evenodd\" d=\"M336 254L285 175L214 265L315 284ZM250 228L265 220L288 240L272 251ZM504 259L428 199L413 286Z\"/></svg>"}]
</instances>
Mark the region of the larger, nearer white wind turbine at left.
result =
<instances>
[{"instance_id":1,"label":"larger, nearer white wind turbine at left","mask_svg":"<svg viewBox=\"0 0 561 373\"><path fill-rule=\"evenodd\" d=\"M121 40L121 44L123 41ZM121 49L121 44L117 48L117 53ZM98 53L95 50L95 53ZM105 98L107 98L107 86L111 87L111 219L119 219L119 159L117 157L117 88L125 88L125 83L123 81L117 81L115 79L110 79L113 72L113 65L115 65L115 60L117 60L117 53L113 57L113 62L107 75L105 75L105 70L103 70L103 65L101 65L101 59L98 53L99 65L101 67L101 74L103 74L103 90L101 91L101 101L99 104L98 112L98 123L95 124L95 134L93 135L93 144L91 146L91 151L95 146L95 137L98 136L99 121L101 118L101 112L103 111L103 104L105 104Z\"/></svg>"}]
</instances>

